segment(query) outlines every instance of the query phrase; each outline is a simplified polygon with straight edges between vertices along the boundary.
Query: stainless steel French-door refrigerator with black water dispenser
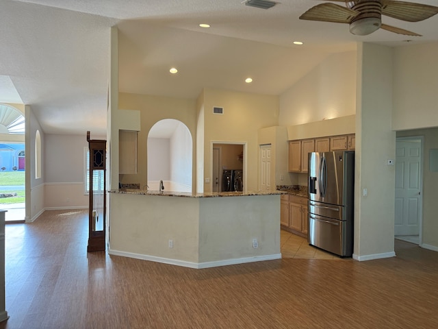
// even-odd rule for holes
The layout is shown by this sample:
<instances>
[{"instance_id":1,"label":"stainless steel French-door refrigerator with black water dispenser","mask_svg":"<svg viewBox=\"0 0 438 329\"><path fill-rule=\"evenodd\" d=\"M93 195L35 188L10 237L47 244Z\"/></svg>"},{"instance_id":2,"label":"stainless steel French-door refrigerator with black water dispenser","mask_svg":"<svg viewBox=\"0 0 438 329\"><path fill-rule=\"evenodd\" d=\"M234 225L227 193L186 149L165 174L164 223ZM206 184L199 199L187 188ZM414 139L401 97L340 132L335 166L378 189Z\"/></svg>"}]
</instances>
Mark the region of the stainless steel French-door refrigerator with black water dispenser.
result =
<instances>
[{"instance_id":1,"label":"stainless steel French-door refrigerator with black water dispenser","mask_svg":"<svg viewBox=\"0 0 438 329\"><path fill-rule=\"evenodd\" d=\"M309 153L310 245L352 256L354 189L355 151Z\"/></svg>"}]
</instances>

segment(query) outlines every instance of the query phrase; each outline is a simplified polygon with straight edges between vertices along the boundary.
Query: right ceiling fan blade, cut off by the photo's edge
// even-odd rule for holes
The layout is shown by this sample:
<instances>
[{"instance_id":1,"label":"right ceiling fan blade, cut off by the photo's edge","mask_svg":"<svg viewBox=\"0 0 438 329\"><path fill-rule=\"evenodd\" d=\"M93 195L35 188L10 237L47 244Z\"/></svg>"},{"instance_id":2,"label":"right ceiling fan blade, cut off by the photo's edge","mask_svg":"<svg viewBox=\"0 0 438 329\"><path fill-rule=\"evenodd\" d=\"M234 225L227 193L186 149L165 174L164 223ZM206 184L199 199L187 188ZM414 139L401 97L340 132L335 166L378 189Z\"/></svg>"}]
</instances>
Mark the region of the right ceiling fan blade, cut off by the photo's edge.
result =
<instances>
[{"instance_id":1,"label":"right ceiling fan blade, cut off by the photo's edge","mask_svg":"<svg viewBox=\"0 0 438 329\"><path fill-rule=\"evenodd\" d=\"M406 1L382 0L382 14L407 22L418 22L438 14L438 7Z\"/></svg>"}]
</instances>

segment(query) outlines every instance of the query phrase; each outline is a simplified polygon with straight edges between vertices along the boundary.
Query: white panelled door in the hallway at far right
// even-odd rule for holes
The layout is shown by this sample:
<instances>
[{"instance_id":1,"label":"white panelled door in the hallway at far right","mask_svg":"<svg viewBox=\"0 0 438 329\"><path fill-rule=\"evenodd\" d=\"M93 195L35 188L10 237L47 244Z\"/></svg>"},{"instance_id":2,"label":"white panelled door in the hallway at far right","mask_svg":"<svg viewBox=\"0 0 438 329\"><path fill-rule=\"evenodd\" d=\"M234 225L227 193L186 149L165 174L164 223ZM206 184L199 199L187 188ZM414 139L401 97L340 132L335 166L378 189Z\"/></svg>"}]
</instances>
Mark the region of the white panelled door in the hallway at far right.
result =
<instances>
[{"instance_id":1,"label":"white panelled door in the hallway at far right","mask_svg":"<svg viewBox=\"0 0 438 329\"><path fill-rule=\"evenodd\" d=\"M396 142L396 218L394 234L418 235L422 208L422 141Z\"/></svg>"}]
</instances>

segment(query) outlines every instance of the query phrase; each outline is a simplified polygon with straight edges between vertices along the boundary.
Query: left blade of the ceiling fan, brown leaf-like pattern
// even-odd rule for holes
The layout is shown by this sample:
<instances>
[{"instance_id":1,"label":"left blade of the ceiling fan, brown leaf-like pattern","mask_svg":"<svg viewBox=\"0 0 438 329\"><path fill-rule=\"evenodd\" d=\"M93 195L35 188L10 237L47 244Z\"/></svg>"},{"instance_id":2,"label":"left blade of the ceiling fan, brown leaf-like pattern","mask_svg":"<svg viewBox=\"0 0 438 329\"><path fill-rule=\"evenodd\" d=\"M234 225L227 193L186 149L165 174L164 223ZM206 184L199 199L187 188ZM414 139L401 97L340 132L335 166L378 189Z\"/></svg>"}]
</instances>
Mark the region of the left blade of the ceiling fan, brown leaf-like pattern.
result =
<instances>
[{"instance_id":1,"label":"left blade of the ceiling fan, brown leaf-like pattern","mask_svg":"<svg viewBox=\"0 0 438 329\"><path fill-rule=\"evenodd\" d=\"M321 3L307 10L307 12L300 16L300 19L332 23L350 23L357 15L359 15L359 12L340 5L335 5L335 3Z\"/></svg>"}]
</instances>

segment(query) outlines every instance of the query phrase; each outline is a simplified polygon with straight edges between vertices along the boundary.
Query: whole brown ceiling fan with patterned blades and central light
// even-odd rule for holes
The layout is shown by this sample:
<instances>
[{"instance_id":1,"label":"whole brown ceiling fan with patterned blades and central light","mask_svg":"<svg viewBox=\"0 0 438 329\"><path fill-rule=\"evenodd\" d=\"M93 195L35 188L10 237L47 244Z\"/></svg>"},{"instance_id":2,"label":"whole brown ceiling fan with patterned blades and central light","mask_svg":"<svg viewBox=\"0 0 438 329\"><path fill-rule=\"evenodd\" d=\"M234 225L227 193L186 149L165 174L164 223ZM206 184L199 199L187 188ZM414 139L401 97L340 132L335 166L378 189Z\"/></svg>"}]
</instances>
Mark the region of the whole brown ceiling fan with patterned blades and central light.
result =
<instances>
[{"instance_id":1,"label":"whole brown ceiling fan with patterned blades and central light","mask_svg":"<svg viewBox=\"0 0 438 329\"><path fill-rule=\"evenodd\" d=\"M350 24L350 32L359 36L372 34L377 29L404 34L421 36L407 29L400 29L382 24L382 14L394 19L408 22L418 22L428 19L438 13L438 7L396 0L329 0L344 2L346 7L335 3L321 3L310 8L300 16L309 21L324 21L331 23Z\"/></svg>"}]
</instances>

